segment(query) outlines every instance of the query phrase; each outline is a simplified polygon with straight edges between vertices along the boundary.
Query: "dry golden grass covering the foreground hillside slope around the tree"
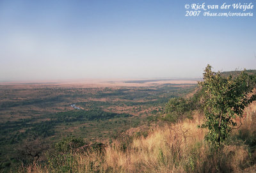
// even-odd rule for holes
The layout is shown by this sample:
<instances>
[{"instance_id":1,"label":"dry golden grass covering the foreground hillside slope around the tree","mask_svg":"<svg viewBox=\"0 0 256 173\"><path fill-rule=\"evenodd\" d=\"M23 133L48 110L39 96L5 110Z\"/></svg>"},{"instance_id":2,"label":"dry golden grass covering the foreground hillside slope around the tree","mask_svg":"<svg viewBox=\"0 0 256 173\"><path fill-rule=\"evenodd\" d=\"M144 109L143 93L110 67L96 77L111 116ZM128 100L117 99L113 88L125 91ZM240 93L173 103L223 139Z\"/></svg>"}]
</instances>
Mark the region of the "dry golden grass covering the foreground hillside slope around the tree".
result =
<instances>
[{"instance_id":1,"label":"dry golden grass covering the foreground hillside slope around the tree","mask_svg":"<svg viewBox=\"0 0 256 173\"><path fill-rule=\"evenodd\" d=\"M253 172L256 162L256 103L247 108L243 125L222 149L204 141L202 117L166 124L147 137L121 137L104 152L74 152L55 166L33 163L19 172Z\"/></svg>"}]
</instances>

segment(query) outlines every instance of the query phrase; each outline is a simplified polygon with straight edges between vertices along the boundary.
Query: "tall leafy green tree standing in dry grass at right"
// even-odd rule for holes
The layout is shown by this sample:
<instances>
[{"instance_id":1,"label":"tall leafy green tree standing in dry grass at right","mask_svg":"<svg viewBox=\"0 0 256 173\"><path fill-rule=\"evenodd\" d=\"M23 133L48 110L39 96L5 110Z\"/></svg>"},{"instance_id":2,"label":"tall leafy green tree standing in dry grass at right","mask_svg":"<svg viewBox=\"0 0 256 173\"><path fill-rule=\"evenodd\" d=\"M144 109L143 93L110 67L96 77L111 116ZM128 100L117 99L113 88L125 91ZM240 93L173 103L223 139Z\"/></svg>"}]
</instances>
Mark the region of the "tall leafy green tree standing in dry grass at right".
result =
<instances>
[{"instance_id":1,"label":"tall leafy green tree standing in dry grass at right","mask_svg":"<svg viewBox=\"0 0 256 173\"><path fill-rule=\"evenodd\" d=\"M204 81L199 82L205 89L205 123L201 127L209 129L205 138L220 147L237 126L236 118L241 118L244 108L256 100L253 94L255 77L248 75L246 70L236 77L224 77L220 71L216 73L211 69L208 64Z\"/></svg>"}]
</instances>

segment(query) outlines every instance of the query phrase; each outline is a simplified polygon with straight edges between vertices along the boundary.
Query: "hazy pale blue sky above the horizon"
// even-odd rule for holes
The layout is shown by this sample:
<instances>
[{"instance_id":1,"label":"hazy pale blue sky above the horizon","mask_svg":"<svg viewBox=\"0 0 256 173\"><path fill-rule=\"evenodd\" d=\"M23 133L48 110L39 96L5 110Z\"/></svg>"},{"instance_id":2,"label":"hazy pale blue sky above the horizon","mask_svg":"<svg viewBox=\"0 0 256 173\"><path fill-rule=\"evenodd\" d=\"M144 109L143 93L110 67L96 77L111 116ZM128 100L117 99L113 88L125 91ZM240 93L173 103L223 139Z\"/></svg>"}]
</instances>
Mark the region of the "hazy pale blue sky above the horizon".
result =
<instances>
[{"instance_id":1,"label":"hazy pale blue sky above the horizon","mask_svg":"<svg viewBox=\"0 0 256 173\"><path fill-rule=\"evenodd\" d=\"M255 7L253 17L185 17L185 4L203 2ZM0 0L0 81L255 69L255 9L252 0Z\"/></svg>"}]
</instances>

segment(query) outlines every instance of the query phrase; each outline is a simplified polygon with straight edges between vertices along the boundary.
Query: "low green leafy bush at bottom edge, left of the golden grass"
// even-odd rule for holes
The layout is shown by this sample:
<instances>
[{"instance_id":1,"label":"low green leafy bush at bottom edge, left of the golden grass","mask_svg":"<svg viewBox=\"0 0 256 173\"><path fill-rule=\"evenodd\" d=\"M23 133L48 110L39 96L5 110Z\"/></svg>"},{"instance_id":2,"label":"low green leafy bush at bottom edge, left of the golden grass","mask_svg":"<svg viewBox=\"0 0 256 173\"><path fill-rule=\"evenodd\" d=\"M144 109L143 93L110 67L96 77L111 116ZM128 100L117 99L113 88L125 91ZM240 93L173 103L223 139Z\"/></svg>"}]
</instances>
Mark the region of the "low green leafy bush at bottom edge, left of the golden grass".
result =
<instances>
[{"instance_id":1,"label":"low green leafy bush at bottom edge, left of the golden grass","mask_svg":"<svg viewBox=\"0 0 256 173\"><path fill-rule=\"evenodd\" d=\"M59 142L56 142L52 149L47 153L47 167L51 172L76 172L79 168L79 160L77 156L90 156L92 153L104 155L105 144L100 142L94 142L92 144L86 143L82 138L79 137L65 137ZM98 160L102 163L104 160ZM97 162L98 162L97 161ZM92 172L97 172L97 164L95 161L88 160L90 165L90 170Z\"/></svg>"}]
</instances>

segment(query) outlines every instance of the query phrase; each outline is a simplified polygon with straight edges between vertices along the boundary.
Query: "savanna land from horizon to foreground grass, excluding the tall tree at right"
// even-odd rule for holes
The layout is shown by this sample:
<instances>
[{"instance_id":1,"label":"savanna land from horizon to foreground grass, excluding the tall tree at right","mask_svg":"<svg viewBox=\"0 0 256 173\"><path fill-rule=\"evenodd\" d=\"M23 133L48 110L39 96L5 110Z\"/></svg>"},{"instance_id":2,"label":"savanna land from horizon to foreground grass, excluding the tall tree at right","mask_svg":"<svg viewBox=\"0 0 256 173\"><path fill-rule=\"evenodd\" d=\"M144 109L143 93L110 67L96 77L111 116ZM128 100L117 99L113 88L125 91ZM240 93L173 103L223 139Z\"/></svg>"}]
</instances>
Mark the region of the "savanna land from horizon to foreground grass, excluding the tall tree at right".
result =
<instances>
[{"instance_id":1,"label":"savanna land from horizon to foreground grass, excluding the tall tree at right","mask_svg":"<svg viewBox=\"0 0 256 173\"><path fill-rule=\"evenodd\" d=\"M240 73L223 72L221 77L237 79ZM246 74L253 98L255 71ZM206 92L196 79L0 87L1 172L255 170L255 101L244 108L240 120L232 118L239 128L227 131L231 133L218 146L205 138Z\"/></svg>"}]
</instances>

